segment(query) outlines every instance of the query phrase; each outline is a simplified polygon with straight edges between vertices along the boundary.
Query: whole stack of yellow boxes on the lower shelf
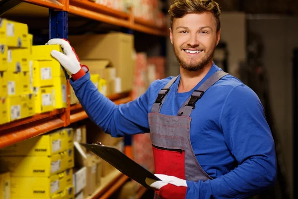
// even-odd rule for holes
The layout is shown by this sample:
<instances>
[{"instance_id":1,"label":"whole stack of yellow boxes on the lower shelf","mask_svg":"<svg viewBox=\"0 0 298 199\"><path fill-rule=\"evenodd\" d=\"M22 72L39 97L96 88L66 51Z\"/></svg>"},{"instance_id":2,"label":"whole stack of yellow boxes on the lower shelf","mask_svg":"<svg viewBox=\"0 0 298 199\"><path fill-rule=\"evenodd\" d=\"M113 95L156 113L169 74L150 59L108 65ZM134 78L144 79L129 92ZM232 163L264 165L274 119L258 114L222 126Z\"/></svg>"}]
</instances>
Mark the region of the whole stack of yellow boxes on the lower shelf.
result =
<instances>
[{"instance_id":1,"label":"whole stack of yellow boxes on the lower shelf","mask_svg":"<svg viewBox=\"0 0 298 199\"><path fill-rule=\"evenodd\" d=\"M0 150L1 171L11 175L12 199L74 198L74 132L60 129Z\"/></svg>"}]
</instances>

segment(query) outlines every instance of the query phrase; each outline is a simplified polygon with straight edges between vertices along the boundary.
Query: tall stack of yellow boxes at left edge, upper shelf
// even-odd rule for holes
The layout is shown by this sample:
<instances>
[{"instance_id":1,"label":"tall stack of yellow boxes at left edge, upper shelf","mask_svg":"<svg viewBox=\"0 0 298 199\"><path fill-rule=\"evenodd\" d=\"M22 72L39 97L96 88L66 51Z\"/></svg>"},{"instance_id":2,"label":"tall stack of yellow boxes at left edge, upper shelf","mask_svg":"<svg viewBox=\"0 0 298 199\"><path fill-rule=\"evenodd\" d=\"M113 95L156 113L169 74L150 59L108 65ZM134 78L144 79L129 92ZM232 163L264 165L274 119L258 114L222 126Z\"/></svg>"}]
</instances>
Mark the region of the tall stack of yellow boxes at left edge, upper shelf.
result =
<instances>
[{"instance_id":1,"label":"tall stack of yellow boxes at left edge, upper shelf","mask_svg":"<svg viewBox=\"0 0 298 199\"><path fill-rule=\"evenodd\" d=\"M0 18L0 124L35 114L27 24Z\"/></svg>"}]
</instances>

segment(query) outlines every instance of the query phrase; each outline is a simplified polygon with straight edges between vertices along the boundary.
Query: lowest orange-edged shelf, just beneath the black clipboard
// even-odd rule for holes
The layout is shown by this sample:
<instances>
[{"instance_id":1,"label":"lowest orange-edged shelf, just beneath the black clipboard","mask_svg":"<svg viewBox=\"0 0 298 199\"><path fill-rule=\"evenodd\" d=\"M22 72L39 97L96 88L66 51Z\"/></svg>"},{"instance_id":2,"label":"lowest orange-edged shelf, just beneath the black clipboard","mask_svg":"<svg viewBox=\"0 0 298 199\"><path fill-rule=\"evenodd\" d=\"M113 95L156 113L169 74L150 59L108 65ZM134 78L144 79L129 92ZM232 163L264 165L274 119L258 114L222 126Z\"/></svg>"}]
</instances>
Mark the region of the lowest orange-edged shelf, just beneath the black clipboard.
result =
<instances>
[{"instance_id":1,"label":"lowest orange-edged shelf, just beneath the black clipboard","mask_svg":"<svg viewBox=\"0 0 298 199\"><path fill-rule=\"evenodd\" d=\"M129 178L116 170L101 178L101 185L87 199L108 199Z\"/></svg>"}]
</instances>

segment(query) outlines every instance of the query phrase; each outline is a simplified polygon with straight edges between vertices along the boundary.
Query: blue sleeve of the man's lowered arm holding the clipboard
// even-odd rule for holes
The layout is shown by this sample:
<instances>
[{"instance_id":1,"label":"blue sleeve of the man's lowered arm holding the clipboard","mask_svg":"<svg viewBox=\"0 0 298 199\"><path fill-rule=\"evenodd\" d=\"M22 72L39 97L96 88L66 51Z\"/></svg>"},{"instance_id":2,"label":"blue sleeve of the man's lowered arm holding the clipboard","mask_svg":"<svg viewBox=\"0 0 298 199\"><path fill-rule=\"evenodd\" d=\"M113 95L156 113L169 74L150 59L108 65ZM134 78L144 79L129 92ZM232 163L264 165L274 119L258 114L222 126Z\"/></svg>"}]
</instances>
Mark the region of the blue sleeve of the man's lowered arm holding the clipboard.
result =
<instances>
[{"instance_id":1,"label":"blue sleeve of the man's lowered arm holding the clipboard","mask_svg":"<svg viewBox=\"0 0 298 199\"><path fill-rule=\"evenodd\" d=\"M263 106L248 87L234 87L221 113L225 142L238 166L214 180L187 182L187 199L242 199L273 186L277 163Z\"/></svg>"}]
</instances>

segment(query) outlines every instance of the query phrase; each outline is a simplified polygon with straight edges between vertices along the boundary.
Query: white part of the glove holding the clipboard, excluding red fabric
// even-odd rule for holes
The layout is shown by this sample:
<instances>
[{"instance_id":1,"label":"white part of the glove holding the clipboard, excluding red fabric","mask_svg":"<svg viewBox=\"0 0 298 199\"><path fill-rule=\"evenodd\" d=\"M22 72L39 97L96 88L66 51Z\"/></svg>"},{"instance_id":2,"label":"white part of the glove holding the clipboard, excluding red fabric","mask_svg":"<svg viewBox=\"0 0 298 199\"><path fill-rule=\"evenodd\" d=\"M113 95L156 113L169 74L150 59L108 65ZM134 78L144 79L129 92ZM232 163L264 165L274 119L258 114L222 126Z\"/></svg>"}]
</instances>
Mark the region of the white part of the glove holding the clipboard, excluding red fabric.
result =
<instances>
[{"instance_id":1,"label":"white part of the glove holding the clipboard, excluding red fabric","mask_svg":"<svg viewBox=\"0 0 298 199\"><path fill-rule=\"evenodd\" d=\"M159 178L161 181L156 181L156 182L152 183L150 185L150 187L155 188L157 190L160 190L163 186L166 186L167 184L172 184L177 187L187 187L185 180L182 180L175 176L167 176L164 174L154 174L154 176Z\"/></svg>"}]
</instances>

